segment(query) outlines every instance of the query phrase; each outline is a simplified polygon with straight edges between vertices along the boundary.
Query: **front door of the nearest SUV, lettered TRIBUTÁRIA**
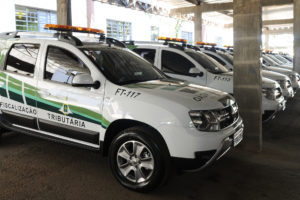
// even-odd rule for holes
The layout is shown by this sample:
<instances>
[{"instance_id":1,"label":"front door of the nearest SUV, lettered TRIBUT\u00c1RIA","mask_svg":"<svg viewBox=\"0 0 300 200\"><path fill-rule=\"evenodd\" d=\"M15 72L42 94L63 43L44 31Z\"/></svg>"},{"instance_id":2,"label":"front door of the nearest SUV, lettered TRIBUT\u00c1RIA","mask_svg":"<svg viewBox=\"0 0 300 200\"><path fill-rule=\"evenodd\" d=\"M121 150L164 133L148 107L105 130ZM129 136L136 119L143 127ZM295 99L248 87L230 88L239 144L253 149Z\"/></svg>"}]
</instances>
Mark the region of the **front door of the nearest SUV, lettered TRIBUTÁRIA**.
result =
<instances>
[{"instance_id":1,"label":"front door of the nearest SUV, lettered TRIBUT\u00c1RIA","mask_svg":"<svg viewBox=\"0 0 300 200\"><path fill-rule=\"evenodd\" d=\"M45 134L99 147L107 122L102 117L105 80L92 62L73 45L46 42L39 73L37 108L39 127ZM77 73L86 73L101 87L73 87Z\"/></svg>"}]
</instances>

